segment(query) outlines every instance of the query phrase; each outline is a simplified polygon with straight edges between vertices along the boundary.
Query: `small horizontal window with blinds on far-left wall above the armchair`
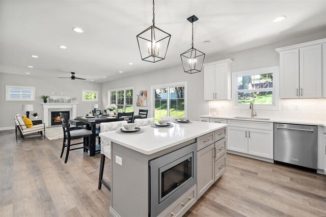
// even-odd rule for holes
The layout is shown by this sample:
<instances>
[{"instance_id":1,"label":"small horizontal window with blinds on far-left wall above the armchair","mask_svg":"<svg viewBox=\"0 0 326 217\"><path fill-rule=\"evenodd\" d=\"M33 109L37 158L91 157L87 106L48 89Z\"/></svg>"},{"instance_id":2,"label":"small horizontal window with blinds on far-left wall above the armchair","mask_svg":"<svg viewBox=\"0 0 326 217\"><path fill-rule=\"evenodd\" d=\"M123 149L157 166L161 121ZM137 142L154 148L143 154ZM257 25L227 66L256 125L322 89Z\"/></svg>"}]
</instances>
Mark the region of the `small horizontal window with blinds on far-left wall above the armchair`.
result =
<instances>
[{"instance_id":1,"label":"small horizontal window with blinds on far-left wall above the armchair","mask_svg":"<svg viewBox=\"0 0 326 217\"><path fill-rule=\"evenodd\" d=\"M6 85L6 101L35 101L35 87Z\"/></svg>"}]
</instances>

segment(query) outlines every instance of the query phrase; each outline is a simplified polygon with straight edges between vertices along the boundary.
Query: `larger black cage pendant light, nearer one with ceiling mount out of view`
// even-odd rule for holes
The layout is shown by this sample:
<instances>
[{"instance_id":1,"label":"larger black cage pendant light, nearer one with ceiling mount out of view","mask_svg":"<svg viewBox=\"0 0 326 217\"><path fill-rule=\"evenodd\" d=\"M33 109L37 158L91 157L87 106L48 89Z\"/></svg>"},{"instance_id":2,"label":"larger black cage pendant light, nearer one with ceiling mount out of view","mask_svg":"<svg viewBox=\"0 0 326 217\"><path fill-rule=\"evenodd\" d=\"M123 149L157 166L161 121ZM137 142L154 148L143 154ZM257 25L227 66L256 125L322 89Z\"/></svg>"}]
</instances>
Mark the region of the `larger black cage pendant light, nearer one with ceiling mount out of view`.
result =
<instances>
[{"instance_id":1,"label":"larger black cage pendant light, nearer one with ceiling mount out of view","mask_svg":"<svg viewBox=\"0 0 326 217\"><path fill-rule=\"evenodd\" d=\"M154 6L155 3L153 0L153 25L137 35L138 47L142 60L152 63L165 59L171 38L169 33L155 26Z\"/></svg>"}]
</instances>

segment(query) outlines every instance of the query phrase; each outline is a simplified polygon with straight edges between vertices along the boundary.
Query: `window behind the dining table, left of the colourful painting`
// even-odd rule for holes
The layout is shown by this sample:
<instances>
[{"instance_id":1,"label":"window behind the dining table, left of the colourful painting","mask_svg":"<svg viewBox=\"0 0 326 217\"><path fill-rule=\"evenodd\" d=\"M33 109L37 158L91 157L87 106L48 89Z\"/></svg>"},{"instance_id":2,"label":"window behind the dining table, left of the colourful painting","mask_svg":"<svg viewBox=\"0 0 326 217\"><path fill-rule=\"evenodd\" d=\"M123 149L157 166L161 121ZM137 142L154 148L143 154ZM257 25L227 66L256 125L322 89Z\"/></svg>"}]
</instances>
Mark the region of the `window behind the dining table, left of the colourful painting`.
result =
<instances>
[{"instance_id":1,"label":"window behind the dining table, left of the colourful painting","mask_svg":"<svg viewBox=\"0 0 326 217\"><path fill-rule=\"evenodd\" d=\"M116 104L118 112L133 112L133 89L108 91L110 104Z\"/></svg>"}]
</instances>

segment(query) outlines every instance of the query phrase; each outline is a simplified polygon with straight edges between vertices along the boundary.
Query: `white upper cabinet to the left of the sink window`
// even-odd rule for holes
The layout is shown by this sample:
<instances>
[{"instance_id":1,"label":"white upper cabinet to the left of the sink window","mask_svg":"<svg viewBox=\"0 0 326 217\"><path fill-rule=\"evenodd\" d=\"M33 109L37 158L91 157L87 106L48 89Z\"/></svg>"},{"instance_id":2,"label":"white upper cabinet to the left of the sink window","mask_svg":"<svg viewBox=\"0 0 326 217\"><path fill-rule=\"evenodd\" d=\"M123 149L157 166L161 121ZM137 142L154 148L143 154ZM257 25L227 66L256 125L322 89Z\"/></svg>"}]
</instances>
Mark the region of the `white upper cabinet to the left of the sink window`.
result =
<instances>
[{"instance_id":1,"label":"white upper cabinet to the left of the sink window","mask_svg":"<svg viewBox=\"0 0 326 217\"><path fill-rule=\"evenodd\" d=\"M231 99L231 59L204 64L204 99Z\"/></svg>"}]
</instances>

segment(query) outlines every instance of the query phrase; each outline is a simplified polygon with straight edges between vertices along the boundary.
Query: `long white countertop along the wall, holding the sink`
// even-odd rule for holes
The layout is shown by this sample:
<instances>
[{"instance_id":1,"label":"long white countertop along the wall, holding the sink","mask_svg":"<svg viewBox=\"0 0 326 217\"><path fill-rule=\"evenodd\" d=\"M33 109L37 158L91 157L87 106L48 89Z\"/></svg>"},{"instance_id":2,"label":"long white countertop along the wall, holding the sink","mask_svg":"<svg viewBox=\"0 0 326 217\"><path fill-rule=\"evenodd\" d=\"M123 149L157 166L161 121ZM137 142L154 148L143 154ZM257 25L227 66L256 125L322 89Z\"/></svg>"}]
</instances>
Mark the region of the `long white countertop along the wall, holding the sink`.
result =
<instances>
[{"instance_id":1,"label":"long white countertop along the wall, holding the sink","mask_svg":"<svg viewBox=\"0 0 326 217\"><path fill-rule=\"evenodd\" d=\"M271 118L269 120L259 120L259 119L241 119L235 118L235 116L212 116L212 115L201 115L201 118L219 118L219 119L229 119L229 120L239 120L239 121L259 121L259 122L271 122L271 123L288 123L288 124L304 124L304 125L319 125L326 127L326 121L314 121L314 120L300 120L300 119L277 119ZM259 118L259 117L258 117ZM263 117L262 117L263 118Z\"/></svg>"}]
</instances>

